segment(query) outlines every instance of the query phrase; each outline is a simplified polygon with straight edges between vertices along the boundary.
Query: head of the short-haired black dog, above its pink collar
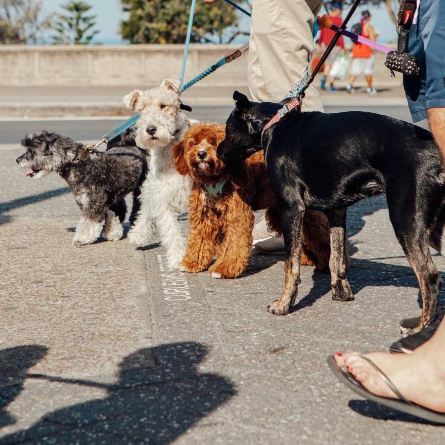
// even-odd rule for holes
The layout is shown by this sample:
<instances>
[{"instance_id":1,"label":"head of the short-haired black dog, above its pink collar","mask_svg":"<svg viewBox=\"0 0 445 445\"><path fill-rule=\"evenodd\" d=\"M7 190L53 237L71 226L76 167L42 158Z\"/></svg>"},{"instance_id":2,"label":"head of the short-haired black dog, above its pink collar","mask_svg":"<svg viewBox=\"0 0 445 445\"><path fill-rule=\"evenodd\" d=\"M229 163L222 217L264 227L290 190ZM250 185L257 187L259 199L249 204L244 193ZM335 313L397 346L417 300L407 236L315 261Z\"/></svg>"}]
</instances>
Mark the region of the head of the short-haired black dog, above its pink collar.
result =
<instances>
[{"instance_id":1,"label":"head of the short-haired black dog, above its pink collar","mask_svg":"<svg viewBox=\"0 0 445 445\"><path fill-rule=\"evenodd\" d=\"M240 162L263 149L261 133L280 105L251 102L246 95L233 93L235 109L227 119L225 138L218 146L218 156L225 163Z\"/></svg>"}]
</instances>

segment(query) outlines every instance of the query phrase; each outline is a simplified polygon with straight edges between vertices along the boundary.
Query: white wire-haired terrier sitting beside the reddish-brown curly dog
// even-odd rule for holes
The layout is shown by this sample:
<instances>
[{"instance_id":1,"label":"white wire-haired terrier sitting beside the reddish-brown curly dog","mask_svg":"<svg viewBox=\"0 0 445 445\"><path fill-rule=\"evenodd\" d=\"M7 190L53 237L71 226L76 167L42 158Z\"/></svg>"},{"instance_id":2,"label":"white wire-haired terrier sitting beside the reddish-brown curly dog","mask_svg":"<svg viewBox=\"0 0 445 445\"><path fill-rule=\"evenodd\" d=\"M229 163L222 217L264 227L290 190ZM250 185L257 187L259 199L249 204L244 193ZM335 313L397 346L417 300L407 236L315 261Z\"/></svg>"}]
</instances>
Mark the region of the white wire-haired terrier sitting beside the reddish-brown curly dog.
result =
<instances>
[{"instance_id":1,"label":"white wire-haired terrier sitting beside the reddish-brown curly dog","mask_svg":"<svg viewBox=\"0 0 445 445\"><path fill-rule=\"evenodd\" d=\"M142 184L140 210L128 238L146 246L156 227L172 268L179 268L185 254L178 216L187 211L191 189L189 177L179 175L173 162L173 147L190 126L181 113L179 95L180 82L166 79L159 87L124 97L125 105L140 114L134 126L136 143L150 154L150 173Z\"/></svg>"}]
</instances>

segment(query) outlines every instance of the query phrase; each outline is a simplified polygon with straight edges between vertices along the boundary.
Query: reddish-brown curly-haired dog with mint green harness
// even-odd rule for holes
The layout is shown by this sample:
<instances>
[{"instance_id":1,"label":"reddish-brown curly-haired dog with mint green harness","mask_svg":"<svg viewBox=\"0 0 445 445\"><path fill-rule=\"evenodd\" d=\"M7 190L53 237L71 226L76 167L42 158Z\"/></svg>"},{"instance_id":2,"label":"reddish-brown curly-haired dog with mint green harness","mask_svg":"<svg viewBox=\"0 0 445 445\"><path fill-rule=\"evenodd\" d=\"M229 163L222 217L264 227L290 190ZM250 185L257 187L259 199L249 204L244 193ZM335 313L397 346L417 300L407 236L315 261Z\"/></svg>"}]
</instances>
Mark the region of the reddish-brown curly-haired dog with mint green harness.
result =
<instances>
[{"instance_id":1,"label":"reddish-brown curly-haired dog with mint green harness","mask_svg":"<svg viewBox=\"0 0 445 445\"><path fill-rule=\"evenodd\" d=\"M218 144L225 137L220 124L191 126L175 145L173 159L181 175L192 179L189 197L190 232L181 267L199 272L209 268L214 278L239 276L252 251L255 210L266 210L269 227L281 232L275 196L269 185L263 153L250 156L236 167L227 168L218 158ZM206 186L227 182L221 194L213 196ZM320 212L308 212L301 264L329 264L329 226ZM321 236L320 236L321 235Z\"/></svg>"}]
</instances>

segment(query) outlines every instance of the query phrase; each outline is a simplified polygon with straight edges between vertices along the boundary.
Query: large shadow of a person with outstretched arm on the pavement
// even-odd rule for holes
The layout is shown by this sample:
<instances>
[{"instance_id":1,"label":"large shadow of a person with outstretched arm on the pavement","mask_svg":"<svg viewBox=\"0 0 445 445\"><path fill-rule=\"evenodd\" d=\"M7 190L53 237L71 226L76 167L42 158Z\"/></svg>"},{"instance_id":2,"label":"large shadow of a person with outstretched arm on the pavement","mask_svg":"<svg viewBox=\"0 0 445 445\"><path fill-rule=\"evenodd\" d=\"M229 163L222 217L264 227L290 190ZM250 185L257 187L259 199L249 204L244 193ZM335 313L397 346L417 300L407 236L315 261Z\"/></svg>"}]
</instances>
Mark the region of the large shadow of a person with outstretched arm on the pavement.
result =
<instances>
[{"instance_id":1,"label":"large shadow of a person with outstretched arm on the pavement","mask_svg":"<svg viewBox=\"0 0 445 445\"><path fill-rule=\"evenodd\" d=\"M28 430L4 437L0 444L43 437L48 443L173 442L235 394L228 379L197 371L206 354L207 348L195 342L141 349L120 363L119 378L110 385L30 375L103 388L107 396L47 414Z\"/></svg>"}]
</instances>

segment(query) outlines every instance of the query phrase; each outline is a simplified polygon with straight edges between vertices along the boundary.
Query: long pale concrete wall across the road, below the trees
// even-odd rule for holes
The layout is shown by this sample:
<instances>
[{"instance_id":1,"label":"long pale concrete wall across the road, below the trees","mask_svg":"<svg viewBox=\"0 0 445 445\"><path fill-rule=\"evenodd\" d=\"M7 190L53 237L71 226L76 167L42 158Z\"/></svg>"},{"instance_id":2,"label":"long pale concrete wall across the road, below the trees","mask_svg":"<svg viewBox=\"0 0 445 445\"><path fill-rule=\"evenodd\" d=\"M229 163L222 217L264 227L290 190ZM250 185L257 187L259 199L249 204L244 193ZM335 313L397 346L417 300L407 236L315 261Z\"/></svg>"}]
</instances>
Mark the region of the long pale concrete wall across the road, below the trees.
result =
<instances>
[{"instance_id":1,"label":"long pale concrete wall across the road, below the trees","mask_svg":"<svg viewBox=\"0 0 445 445\"><path fill-rule=\"evenodd\" d=\"M238 45L190 45L185 81ZM134 85L152 87L179 78L183 45L0 45L0 85ZM400 85L375 53L376 85ZM247 85L247 54L199 82L202 87ZM297 79L296 79L297 80Z\"/></svg>"}]
</instances>

